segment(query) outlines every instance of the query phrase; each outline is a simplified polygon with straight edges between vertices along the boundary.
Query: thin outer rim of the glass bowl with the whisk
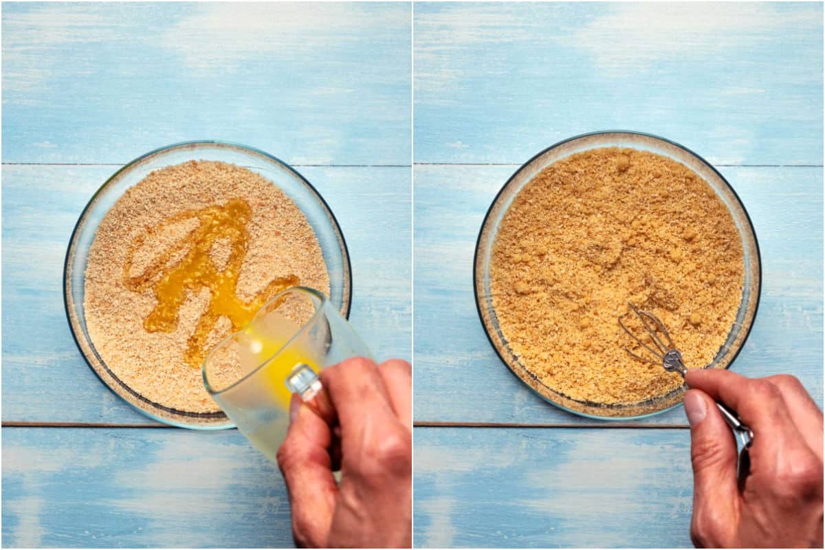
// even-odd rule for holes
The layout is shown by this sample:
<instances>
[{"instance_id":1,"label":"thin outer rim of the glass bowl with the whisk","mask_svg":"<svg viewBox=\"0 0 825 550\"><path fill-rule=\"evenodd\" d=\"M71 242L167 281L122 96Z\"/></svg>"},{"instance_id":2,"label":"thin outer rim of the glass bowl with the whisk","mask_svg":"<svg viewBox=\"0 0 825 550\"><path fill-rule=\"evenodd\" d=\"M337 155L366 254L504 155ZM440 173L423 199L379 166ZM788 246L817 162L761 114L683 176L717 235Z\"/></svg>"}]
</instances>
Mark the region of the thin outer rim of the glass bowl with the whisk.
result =
<instances>
[{"instance_id":1,"label":"thin outer rim of the glass bowl with the whisk","mask_svg":"<svg viewBox=\"0 0 825 550\"><path fill-rule=\"evenodd\" d=\"M680 401L674 403L673 405L671 405L669 407L664 407L662 409L659 409L658 411L647 412L647 413L644 413L644 414L641 414L641 415L634 415L634 416L598 416L598 415L588 414L587 412L576 411L576 410L571 409L569 407L564 407L561 403L555 402L552 399L550 399L549 397L544 396L542 393L540 393L535 388L533 388L530 385L530 383L527 383L526 380L522 379L518 374L516 374L516 371L512 369L510 364L507 362L507 360L502 356L501 352L498 350L495 342L493 341L493 336L490 335L490 331L488 330L487 325L484 323L484 317L483 317L483 312L482 312L482 304L481 304L481 296L479 296L479 284L477 284L477 281L479 280L478 279L479 278L479 273L478 273L478 269L479 269L479 250L480 250L480 246L481 246L481 237L482 237L482 234L484 232L484 228L487 227L488 219L490 217L490 214L493 212L493 207L496 205L496 203L498 201L498 198L502 195L502 193L505 190L507 190L507 187L510 186L510 184L516 178L516 176L518 176L519 173L521 173L522 170L524 170L527 166L529 166L531 162L535 161L536 158L541 157L542 155L544 155L544 153L548 153L550 150L552 150L554 148L562 146L564 143L569 143L569 142L572 142L572 141L576 141L578 139L584 139L584 138L589 138L589 137L592 137L592 136L606 135L606 134L625 134L625 135L630 135L630 136L642 136L644 138L658 140L658 141L661 141L663 143L667 143L669 145L672 145L676 148L682 149L686 153L688 153L688 154L692 155L693 157L697 158L700 162L704 163L705 166L709 167L710 170L712 170L716 174L716 176L719 176L719 180L722 181L724 183L724 185L728 187L728 190L730 190L730 192L733 194L733 198L736 199L739 206L742 208L742 212L745 214L745 219L747 219L747 225L751 230L751 234L753 235L753 243L754 243L754 247L755 247L756 254L757 254L757 267L759 269L758 269L757 280L755 281L757 292L756 292L756 303L754 304L754 308L753 308L753 320L750 323L750 326L747 327L747 331L745 331L745 335L742 337L742 342L739 344L737 350L733 353L733 356L731 357L730 361L728 362L727 366L725 367L725 369L730 369L731 365L736 360L739 353L742 351L742 348L745 346L745 343L747 342L748 336L751 335L751 331L753 330L753 325L755 324L755 322L757 320L757 313L759 311L759 303L761 301L761 293L762 293L762 256L761 256L761 251L760 251L760 248L759 248L759 239L757 237L757 232L756 232L756 229L753 227L753 221L751 219L751 214L748 213L747 209L745 208L745 204L742 202L742 199L739 197L736 190L733 189L733 186L730 185L730 182L727 180L727 178L725 178L719 172L719 170L717 170L716 167L714 167L713 164L711 164L710 162L705 160L705 157L700 156L699 154L692 151L690 148L686 148L681 143L676 143L675 141L672 141L671 139L662 138L661 136L658 136L656 134L649 134L648 132L640 132L640 131L637 131L637 130L625 130L625 129L597 130L597 131L594 131L594 132L587 132L585 134L577 134L577 135L574 135L573 137L563 139L563 140L561 140L557 143L554 143L553 145L550 145L547 148L542 149L539 153L535 153L535 155L530 157L529 160L522 163L520 167L516 168L516 171L513 172L512 175L507 178L507 181L504 183L504 185L501 187L501 189L498 190L495 197L493 197L493 200L490 202L490 206L487 209L487 213L484 214L484 219L483 219L483 221L481 223L481 226L479 228L479 236L476 237L475 251L474 251L474 254L473 254L473 294L474 294L474 298L475 298L476 313L479 314L479 321L481 322L481 326L484 329L484 336L487 336L487 340L490 342L490 346L493 347L493 350L496 352L496 355L502 361L502 363L507 367L507 370L510 371L510 373L514 377L516 377L516 379L518 379L519 382L526 385L527 388L530 388L530 391L532 393L535 393L535 395L538 395L539 397L541 397L545 402L549 402L550 404L554 405L555 407L559 407L563 411L571 412L571 413L573 413L574 415L577 415L577 416L584 416L586 418L592 418L592 419L600 420L600 421L614 421L614 422L616 422L616 421L635 421L635 420L640 420L640 419L643 419L643 418L647 418L648 416L656 416L656 415L662 414L663 412L670 411L670 410L672 410L676 407L681 407L682 401L680 400ZM594 147L594 148L598 148L598 147ZM676 161L676 162L678 162L678 161ZM702 179L704 179L704 178L702 178ZM550 388L550 389L552 390L552 388ZM554 393L559 393L560 395L564 396L563 393L556 392L555 390L552 390L552 391L554 391ZM625 405L621 405L619 407L617 407L617 406L605 406L605 405L601 405L600 403L582 402L580 400L573 399L572 397L568 397L568 396L564 396L564 397L570 399L573 402L580 402L580 403L582 403L582 405L587 405L588 407L602 407L602 408L605 408L606 410L619 410L621 407L626 407ZM631 407L634 406L634 405L638 405L638 403L632 404Z\"/></svg>"}]
</instances>

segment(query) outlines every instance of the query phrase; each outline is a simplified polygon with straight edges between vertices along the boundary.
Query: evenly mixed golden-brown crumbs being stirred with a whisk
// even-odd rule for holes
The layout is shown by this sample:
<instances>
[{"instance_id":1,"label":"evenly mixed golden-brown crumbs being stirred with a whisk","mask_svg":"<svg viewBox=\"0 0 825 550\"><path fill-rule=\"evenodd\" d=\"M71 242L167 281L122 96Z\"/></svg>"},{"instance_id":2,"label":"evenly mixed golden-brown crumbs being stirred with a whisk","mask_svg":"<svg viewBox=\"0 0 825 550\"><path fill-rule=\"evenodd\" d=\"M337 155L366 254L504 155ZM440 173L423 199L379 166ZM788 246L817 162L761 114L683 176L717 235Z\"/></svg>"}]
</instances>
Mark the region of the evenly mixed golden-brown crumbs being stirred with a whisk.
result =
<instances>
[{"instance_id":1,"label":"evenly mixed golden-brown crumbs being stirred with a whisk","mask_svg":"<svg viewBox=\"0 0 825 550\"><path fill-rule=\"evenodd\" d=\"M662 320L689 369L704 367L733 326L743 271L733 218L705 180L658 154L597 148L554 162L516 195L490 289L507 343L544 385L632 404L682 379L625 353L648 353L619 327L627 303Z\"/></svg>"}]
</instances>

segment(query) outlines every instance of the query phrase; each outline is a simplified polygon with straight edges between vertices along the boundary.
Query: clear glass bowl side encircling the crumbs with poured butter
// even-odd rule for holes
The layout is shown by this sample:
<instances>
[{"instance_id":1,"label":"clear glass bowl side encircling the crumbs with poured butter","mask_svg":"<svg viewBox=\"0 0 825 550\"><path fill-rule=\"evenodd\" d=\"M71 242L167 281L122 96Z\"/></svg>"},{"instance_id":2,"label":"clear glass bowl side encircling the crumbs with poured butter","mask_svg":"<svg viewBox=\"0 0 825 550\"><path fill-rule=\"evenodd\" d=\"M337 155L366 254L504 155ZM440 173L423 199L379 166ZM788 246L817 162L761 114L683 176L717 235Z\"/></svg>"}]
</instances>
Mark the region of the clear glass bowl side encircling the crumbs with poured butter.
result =
<instances>
[{"instance_id":1,"label":"clear glass bowl side encircling the crumbs with poured butter","mask_svg":"<svg viewBox=\"0 0 825 550\"><path fill-rule=\"evenodd\" d=\"M276 157L255 148L236 143L196 141L175 143L155 149L120 168L97 192L80 214L66 251L64 267L64 302L68 324L74 341L83 358L97 377L112 392L156 421L170 425L197 429L221 429L233 427L223 412L197 413L179 411L153 402L135 392L120 380L101 360L89 337L86 315L83 310L84 279L89 247L103 217L127 189L143 180L149 172L191 160L231 162L257 172L272 181L290 199L295 201L312 226L327 264L330 284L330 301L349 317L351 303L351 266L347 243L341 228L326 201L318 191L295 169Z\"/></svg>"}]
</instances>

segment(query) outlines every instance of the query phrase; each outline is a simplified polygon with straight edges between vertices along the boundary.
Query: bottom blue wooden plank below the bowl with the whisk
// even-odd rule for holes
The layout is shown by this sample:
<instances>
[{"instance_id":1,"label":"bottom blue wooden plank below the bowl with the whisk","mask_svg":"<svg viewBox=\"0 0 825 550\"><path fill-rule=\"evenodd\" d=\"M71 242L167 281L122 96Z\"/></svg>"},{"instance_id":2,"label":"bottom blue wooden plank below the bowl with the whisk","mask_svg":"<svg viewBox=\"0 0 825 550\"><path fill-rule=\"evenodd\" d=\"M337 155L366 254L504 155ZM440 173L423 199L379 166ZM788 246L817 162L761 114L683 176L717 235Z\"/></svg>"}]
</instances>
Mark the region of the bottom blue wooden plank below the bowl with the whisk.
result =
<instances>
[{"instance_id":1,"label":"bottom blue wooden plank below the bowl with the whisk","mask_svg":"<svg viewBox=\"0 0 825 550\"><path fill-rule=\"evenodd\" d=\"M416 428L417 548L688 548L688 430Z\"/></svg>"}]
</instances>

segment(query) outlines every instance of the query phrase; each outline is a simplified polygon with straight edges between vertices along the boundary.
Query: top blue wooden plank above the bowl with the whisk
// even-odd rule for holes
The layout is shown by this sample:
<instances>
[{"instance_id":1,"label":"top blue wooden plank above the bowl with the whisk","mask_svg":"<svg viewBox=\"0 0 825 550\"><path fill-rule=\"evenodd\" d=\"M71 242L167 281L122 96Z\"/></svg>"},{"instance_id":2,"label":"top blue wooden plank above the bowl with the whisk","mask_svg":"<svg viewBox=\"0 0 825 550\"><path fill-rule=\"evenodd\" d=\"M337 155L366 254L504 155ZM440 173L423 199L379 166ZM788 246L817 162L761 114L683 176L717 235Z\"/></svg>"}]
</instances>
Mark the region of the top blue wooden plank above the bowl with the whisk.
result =
<instances>
[{"instance_id":1,"label":"top blue wooden plank above the bowl with the whisk","mask_svg":"<svg viewBox=\"0 0 825 550\"><path fill-rule=\"evenodd\" d=\"M416 2L416 162L605 129L715 164L823 163L821 3Z\"/></svg>"}]
</instances>

